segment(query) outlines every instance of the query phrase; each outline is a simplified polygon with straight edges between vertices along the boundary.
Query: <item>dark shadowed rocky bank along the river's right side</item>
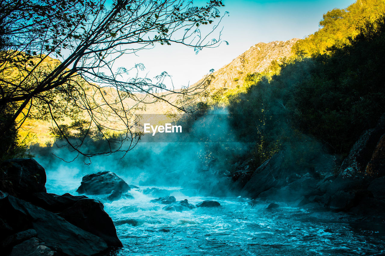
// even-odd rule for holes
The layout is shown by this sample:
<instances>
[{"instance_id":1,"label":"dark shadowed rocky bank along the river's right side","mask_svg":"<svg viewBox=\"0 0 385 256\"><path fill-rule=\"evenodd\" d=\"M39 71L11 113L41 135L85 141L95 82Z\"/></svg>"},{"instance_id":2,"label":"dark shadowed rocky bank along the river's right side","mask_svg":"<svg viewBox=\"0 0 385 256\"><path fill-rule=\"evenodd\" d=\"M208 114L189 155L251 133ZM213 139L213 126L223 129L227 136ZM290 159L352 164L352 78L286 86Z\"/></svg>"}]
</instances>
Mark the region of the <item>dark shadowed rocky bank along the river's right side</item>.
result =
<instances>
[{"instance_id":1,"label":"dark shadowed rocky bank along the river's right side","mask_svg":"<svg viewBox=\"0 0 385 256\"><path fill-rule=\"evenodd\" d=\"M320 154L304 167L286 158L281 151L256 170L245 162L230 177L229 186L264 201L385 215L385 116L360 136L342 163L340 156Z\"/></svg>"}]
</instances>

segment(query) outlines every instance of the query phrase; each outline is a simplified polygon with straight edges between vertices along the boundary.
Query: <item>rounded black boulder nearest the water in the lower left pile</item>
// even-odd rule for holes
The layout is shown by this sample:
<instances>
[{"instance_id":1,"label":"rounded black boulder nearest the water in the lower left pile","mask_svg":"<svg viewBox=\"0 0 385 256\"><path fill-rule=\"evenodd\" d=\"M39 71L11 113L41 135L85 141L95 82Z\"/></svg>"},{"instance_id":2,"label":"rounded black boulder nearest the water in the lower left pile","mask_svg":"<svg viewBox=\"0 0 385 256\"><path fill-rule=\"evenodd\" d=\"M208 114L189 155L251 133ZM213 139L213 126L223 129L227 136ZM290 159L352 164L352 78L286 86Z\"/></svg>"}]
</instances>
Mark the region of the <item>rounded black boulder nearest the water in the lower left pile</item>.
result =
<instances>
[{"instance_id":1,"label":"rounded black boulder nearest the water in the lower left pile","mask_svg":"<svg viewBox=\"0 0 385 256\"><path fill-rule=\"evenodd\" d=\"M103 208L103 204L99 201L85 198L80 199L58 215L75 226L102 238L108 246L122 246L114 223Z\"/></svg>"}]
</instances>

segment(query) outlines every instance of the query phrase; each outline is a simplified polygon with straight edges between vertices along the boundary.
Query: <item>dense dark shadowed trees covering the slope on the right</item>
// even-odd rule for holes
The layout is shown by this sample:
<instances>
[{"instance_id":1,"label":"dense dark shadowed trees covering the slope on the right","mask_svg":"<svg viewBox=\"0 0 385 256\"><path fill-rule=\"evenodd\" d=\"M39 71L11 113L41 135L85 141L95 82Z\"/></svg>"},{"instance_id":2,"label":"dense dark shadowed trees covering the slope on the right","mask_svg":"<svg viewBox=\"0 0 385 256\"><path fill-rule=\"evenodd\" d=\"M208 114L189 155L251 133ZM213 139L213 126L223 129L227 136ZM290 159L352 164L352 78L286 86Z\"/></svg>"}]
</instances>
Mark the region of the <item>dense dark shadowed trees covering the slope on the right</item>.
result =
<instances>
[{"instance_id":1,"label":"dense dark shadowed trees covering the slope on the right","mask_svg":"<svg viewBox=\"0 0 385 256\"><path fill-rule=\"evenodd\" d=\"M330 153L346 155L376 125L385 112L385 18L365 22L358 31L328 54L285 60L270 81L262 78L231 96L239 138L256 142L259 163L278 148L308 143L306 150L315 149L310 138Z\"/></svg>"}]
</instances>

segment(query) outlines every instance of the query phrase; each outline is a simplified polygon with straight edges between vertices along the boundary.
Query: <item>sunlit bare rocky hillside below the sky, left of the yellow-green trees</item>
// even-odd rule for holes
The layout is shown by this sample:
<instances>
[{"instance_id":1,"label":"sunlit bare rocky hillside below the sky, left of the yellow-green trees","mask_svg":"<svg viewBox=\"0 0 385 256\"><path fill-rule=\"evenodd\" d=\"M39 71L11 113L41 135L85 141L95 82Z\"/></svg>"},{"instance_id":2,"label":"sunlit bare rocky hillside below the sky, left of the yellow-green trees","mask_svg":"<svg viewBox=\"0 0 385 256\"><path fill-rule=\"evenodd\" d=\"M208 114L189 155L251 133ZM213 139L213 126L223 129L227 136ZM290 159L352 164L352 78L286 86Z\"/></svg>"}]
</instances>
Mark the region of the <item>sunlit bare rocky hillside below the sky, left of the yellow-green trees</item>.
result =
<instances>
[{"instance_id":1,"label":"sunlit bare rocky hillside below the sky, left of the yellow-green trees","mask_svg":"<svg viewBox=\"0 0 385 256\"><path fill-rule=\"evenodd\" d=\"M298 40L298 38L293 38L288 41L261 42L253 45L232 62L215 71L213 73L215 79L211 82L209 89L222 87L234 89L237 85L243 85L248 73L261 73L270 66L272 61L290 57L291 47Z\"/></svg>"}]
</instances>

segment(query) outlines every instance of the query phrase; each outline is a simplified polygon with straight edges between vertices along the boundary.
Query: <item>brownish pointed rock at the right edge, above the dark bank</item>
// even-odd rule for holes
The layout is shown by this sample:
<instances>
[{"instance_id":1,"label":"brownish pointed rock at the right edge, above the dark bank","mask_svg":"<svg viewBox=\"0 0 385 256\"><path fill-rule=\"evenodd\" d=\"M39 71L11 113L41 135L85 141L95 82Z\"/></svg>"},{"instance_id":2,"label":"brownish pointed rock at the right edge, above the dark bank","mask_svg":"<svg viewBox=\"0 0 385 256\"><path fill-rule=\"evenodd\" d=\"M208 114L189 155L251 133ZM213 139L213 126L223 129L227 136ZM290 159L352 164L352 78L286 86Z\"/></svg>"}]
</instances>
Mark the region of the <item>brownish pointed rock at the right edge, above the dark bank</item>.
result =
<instances>
[{"instance_id":1,"label":"brownish pointed rock at the right edge, above the dark bank","mask_svg":"<svg viewBox=\"0 0 385 256\"><path fill-rule=\"evenodd\" d=\"M385 134L377 142L372 158L366 166L365 173L372 177L385 175Z\"/></svg>"}]
</instances>

